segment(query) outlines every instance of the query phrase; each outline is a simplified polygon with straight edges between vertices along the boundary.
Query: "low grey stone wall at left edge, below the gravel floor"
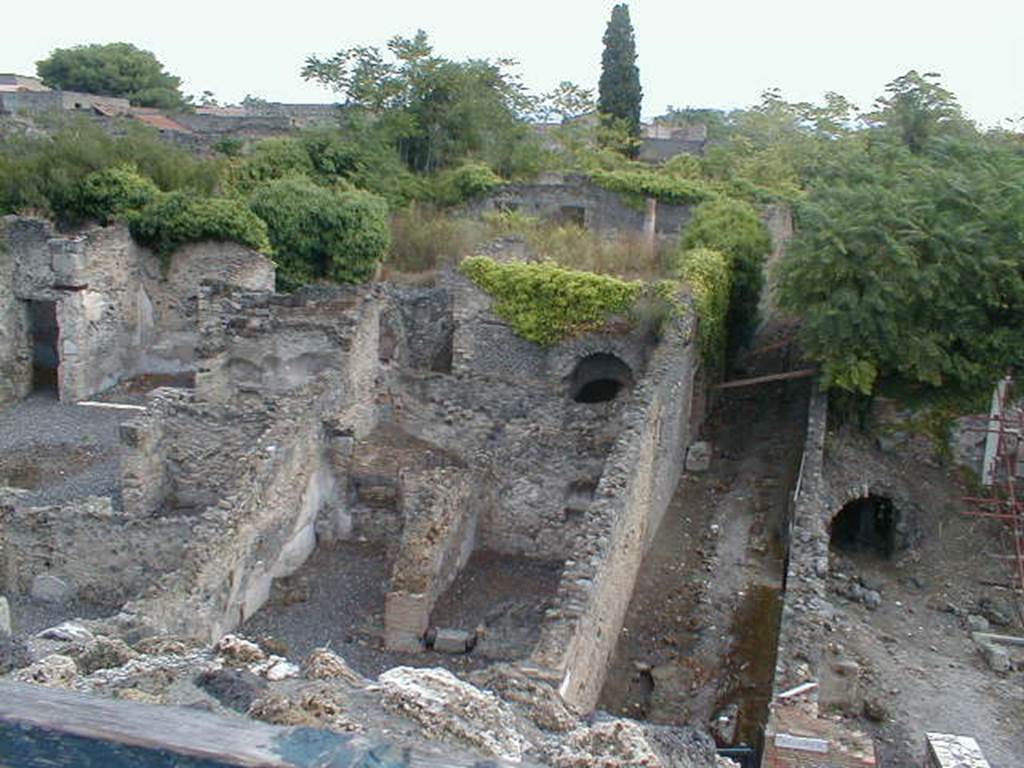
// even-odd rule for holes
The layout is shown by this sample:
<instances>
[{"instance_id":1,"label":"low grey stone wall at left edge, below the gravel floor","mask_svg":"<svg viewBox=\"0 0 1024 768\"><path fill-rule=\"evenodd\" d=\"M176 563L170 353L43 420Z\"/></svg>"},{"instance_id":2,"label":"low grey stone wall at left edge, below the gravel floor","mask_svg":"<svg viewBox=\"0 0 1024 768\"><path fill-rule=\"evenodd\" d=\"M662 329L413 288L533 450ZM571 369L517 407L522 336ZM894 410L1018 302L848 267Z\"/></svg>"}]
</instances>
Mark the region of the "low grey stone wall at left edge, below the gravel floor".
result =
<instances>
[{"instance_id":1,"label":"low grey stone wall at left edge, below the gravel floor","mask_svg":"<svg viewBox=\"0 0 1024 768\"><path fill-rule=\"evenodd\" d=\"M62 583L54 599L119 605L177 567L188 528L117 511L106 497L29 507L0 493L0 593L28 593L45 575Z\"/></svg>"}]
</instances>

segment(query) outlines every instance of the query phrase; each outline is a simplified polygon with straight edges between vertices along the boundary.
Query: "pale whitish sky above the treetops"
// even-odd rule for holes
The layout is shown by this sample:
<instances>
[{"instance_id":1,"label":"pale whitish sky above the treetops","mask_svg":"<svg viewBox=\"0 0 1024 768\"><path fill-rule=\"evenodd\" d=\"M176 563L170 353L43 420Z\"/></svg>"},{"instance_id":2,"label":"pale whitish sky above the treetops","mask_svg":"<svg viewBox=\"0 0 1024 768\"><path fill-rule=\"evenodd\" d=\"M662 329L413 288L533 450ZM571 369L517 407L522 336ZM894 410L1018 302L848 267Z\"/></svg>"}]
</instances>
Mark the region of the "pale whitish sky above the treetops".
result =
<instances>
[{"instance_id":1,"label":"pale whitish sky above the treetops","mask_svg":"<svg viewBox=\"0 0 1024 768\"><path fill-rule=\"evenodd\" d=\"M223 0L4 3L0 72L35 74L50 50L125 41L152 50L187 93L221 102L332 101L299 70L311 53L383 46L427 31L450 58L508 56L538 91L596 87L610 0ZM1024 117L1024 1L632 0L644 116L669 104L731 109L779 87L791 100L827 90L870 106L908 70L938 72L984 125Z\"/></svg>"}]
</instances>

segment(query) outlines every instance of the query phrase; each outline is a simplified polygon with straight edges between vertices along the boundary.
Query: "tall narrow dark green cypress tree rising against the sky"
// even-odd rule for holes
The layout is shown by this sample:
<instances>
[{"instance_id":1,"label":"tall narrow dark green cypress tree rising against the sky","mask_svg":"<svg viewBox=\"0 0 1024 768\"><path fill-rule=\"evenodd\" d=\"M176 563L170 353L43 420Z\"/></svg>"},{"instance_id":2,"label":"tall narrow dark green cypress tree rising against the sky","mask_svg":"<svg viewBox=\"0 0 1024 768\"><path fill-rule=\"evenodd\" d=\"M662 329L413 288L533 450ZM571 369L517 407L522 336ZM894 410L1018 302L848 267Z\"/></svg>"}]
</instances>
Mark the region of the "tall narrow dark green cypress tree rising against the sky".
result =
<instances>
[{"instance_id":1,"label":"tall narrow dark green cypress tree rising against the sky","mask_svg":"<svg viewBox=\"0 0 1024 768\"><path fill-rule=\"evenodd\" d=\"M597 109L625 121L633 135L640 133L640 70L637 69L637 45L630 22L630 9L620 3L611 9L608 28L604 31L604 53L601 55L601 81Z\"/></svg>"}]
</instances>

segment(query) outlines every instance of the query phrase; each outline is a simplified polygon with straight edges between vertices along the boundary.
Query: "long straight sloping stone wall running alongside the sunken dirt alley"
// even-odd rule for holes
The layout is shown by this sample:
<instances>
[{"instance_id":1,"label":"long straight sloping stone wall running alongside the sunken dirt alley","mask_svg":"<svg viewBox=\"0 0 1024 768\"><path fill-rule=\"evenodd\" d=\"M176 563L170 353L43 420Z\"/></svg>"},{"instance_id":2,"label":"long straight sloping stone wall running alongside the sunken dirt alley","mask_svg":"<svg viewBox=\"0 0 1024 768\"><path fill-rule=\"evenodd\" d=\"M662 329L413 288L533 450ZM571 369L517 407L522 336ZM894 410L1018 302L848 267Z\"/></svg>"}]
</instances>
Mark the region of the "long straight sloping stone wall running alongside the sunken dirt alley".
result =
<instances>
[{"instance_id":1,"label":"long straight sloping stone wall running alongside the sunken dirt alley","mask_svg":"<svg viewBox=\"0 0 1024 768\"><path fill-rule=\"evenodd\" d=\"M692 316L675 322L623 411L556 605L524 665L581 711L597 703L637 572L679 481L699 354Z\"/></svg>"}]
</instances>

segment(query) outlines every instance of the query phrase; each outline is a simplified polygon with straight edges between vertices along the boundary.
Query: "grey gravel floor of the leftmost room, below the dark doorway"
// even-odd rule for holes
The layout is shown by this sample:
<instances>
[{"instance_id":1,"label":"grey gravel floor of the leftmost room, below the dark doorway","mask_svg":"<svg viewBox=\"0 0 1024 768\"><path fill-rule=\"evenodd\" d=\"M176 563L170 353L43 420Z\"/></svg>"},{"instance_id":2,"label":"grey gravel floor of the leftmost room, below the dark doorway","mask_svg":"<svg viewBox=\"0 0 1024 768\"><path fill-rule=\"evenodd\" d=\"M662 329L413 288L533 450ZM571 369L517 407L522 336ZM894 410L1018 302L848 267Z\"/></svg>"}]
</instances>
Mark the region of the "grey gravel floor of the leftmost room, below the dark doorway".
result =
<instances>
[{"instance_id":1,"label":"grey gravel floor of the leftmost room, below the dark doorway","mask_svg":"<svg viewBox=\"0 0 1024 768\"><path fill-rule=\"evenodd\" d=\"M0 411L0 485L29 490L26 503L86 496L120 499L124 411L69 406L37 393Z\"/></svg>"}]
</instances>

